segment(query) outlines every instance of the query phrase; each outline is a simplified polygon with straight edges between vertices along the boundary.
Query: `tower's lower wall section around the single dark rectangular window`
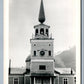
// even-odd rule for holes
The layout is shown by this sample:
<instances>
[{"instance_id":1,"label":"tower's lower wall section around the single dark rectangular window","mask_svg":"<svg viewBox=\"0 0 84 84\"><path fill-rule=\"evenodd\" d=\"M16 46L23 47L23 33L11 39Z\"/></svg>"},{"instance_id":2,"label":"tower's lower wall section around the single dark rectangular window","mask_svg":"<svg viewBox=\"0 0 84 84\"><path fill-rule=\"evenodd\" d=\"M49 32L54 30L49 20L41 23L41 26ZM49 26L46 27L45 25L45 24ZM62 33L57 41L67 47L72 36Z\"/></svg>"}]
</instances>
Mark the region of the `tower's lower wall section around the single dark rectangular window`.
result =
<instances>
[{"instance_id":1,"label":"tower's lower wall section around the single dark rectangular window","mask_svg":"<svg viewBox=\"0 0 84 84\"><path fill-rule=\"evenodd\" d=\"M46 66L46 70L40 70L39 69L39 66L40 65L45 65ZM41 61L39 61L39 62L32 62L31 63L31 68L30 68L30 70L31 70L31 73L40 73L40 74L42 74L42 73L45 73L45 74L54 74L54 69L53 69L53 67L54 67L54 63L53 63L53 60L52 61L49 61L49 62L46 62L46 60L45 61L43 61L43 62L41 62Z\"/></svg>"}]
</instances>

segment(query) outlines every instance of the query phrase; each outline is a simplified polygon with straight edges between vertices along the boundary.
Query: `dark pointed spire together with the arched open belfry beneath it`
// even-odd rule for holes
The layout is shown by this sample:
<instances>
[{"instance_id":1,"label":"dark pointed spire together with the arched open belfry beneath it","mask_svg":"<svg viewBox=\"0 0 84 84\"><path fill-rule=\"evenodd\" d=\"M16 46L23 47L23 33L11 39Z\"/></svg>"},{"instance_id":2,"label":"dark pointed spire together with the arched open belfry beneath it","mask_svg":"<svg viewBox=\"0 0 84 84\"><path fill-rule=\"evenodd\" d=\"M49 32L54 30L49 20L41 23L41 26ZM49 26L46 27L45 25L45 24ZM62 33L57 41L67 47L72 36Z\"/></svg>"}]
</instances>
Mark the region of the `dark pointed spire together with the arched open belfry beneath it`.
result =
<instances>
[{"instance_id":1,"label":"dark pointed spire together with the arched open belfry beneath it","mask_svg":"<svg viewBox=\"0 0 84 84\"><path fill-rule=\"evenodd\" d=\"M50 26L43 24L45 22L45 12L44 12L43 0L41 0L41 4L40 4L38 21L41 24L34 26L35 39L49 39Z\"/></svg>"}]
</instances>

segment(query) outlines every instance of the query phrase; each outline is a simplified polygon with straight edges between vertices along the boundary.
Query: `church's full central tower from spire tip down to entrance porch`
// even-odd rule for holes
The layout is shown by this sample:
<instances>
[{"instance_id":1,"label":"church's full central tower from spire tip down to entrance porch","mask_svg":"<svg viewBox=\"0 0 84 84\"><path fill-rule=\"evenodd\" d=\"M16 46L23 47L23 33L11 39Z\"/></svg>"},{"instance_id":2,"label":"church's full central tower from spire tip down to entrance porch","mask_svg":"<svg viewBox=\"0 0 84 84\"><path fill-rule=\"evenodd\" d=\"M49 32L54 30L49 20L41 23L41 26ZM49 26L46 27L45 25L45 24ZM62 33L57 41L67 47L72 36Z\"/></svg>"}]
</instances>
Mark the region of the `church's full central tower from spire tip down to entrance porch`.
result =
<instances>
[{"instance_id":1,"label":"church's full central tower from spire tip down to entrance porch","mask_svg":"<svg viewBox=\"0 0 84 84\"><path fill-rule=\"evenodd\" d=\"M35 25L35 35L30 39L31 43L31 84L53 84L54 59L53 38L49 35L50 26L45 25L45 12L43 0L41 0L38 21Z\"/></svg>"}]
</instances>

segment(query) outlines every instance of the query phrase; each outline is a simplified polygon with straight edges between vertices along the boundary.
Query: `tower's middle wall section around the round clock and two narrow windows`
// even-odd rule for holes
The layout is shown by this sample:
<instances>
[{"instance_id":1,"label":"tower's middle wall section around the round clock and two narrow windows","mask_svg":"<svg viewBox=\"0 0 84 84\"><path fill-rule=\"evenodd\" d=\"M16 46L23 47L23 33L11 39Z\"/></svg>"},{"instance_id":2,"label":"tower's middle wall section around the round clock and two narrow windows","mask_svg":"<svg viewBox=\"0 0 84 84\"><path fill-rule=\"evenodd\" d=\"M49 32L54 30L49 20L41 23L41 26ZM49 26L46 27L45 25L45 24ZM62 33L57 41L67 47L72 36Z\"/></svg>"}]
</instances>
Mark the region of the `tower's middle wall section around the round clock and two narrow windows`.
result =
<instances>
[{"instance_id":1,"label":"tower's middle wall section around the round clock and two narrow windows","mask_svg":"<svg viewBox=\"0 0 84 84\"><path fill-rule=\"evenodd\" d=\"M44 56L40 55L42 49L45 51ZM34 51L36 51L36 56L34 56ZM50 57L53 57L53 40L31 40L31 57L48 58L48 51L51 51Z\"/></svg>"}]
</instances>

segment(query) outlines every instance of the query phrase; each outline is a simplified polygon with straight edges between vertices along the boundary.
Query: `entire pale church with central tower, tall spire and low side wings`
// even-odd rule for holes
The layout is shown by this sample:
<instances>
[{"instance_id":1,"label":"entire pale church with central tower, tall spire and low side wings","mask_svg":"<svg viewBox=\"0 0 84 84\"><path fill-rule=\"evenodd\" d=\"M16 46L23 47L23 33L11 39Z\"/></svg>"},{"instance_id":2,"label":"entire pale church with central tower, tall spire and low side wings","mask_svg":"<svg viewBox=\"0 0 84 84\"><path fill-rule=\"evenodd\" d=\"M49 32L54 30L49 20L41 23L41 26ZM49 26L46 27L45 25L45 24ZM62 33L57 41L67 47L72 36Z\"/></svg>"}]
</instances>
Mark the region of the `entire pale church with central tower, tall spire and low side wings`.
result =
<instances>
[{"instance_id":1,"label":"entire pale church with central tower, tall spire and low side wings","mask_svg":"<svg viewBox=\"0 0 84 84\"><path fill-rule=\"evenodd\" d=\"M25 60L26 68L12 68L9 65L8 84L76 84L72 68L55 68L53 56L54 39L49 35L50 26L45 25L45 12L41 0L35 34L30 39L31 56ZM10 62L9 62L10 63Z\"/></svg>"}]
</instances>

